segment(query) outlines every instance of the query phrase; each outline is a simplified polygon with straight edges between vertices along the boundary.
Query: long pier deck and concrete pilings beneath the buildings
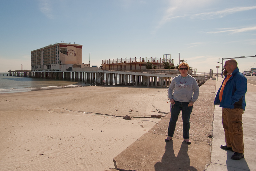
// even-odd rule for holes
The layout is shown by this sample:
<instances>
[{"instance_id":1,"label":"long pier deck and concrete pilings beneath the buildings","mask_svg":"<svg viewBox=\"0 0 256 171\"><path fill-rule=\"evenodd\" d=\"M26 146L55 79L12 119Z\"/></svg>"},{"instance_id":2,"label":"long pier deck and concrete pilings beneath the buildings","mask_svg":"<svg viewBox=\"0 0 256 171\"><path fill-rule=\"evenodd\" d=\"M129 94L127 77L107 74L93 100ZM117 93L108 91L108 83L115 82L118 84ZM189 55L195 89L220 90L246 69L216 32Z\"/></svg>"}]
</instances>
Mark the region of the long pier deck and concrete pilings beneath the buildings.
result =
<instances>
[{"instance_id":1,"label":"long pier deck and concrete pilings beneath the buildings","mask_svg":"<svg viewBox=\"0 0 256 171\"><path fill-rule=\"evenodd\" d=\"M98 67L87 68L87 71L31 71L31 70L16 70L9 71L9 76L17 77L34 77L58 80L72 80L95 82L103 85L133 85L133 86L155 86L167 87L171 80L176 77L178 70L137 70L137 71L114 71L103 70ZM192 73L189 73L192 74ZM203 81L205 78L202 75L193 75L197 82Z\"/></svg>"}]
</instances>

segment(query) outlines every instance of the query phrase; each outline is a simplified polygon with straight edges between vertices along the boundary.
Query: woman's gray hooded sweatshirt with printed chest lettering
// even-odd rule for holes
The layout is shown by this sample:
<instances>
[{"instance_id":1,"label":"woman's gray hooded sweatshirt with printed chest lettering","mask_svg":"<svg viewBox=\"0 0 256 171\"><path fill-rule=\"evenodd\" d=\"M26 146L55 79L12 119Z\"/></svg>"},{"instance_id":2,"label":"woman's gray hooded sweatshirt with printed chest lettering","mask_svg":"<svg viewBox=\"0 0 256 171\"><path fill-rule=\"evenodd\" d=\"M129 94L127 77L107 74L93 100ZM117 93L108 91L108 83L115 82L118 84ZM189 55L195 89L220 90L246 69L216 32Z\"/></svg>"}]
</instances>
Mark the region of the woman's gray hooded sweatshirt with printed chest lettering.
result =
<instances>
[{"instance_id":1,"label":"woman's gray hooded sweatshirt with printed chest lettering","mask_svg":"<svg viewBox=\"0 0 256 171\"><path fill-rule=\"evenodd\" d=\"M193 94L194 92L194 94ZM194 77L187 75L183 78L180 74L174 77L168 89L169 99L179 102L195 102L199 96L199 87Z\"/></svg>"}]
</instances>

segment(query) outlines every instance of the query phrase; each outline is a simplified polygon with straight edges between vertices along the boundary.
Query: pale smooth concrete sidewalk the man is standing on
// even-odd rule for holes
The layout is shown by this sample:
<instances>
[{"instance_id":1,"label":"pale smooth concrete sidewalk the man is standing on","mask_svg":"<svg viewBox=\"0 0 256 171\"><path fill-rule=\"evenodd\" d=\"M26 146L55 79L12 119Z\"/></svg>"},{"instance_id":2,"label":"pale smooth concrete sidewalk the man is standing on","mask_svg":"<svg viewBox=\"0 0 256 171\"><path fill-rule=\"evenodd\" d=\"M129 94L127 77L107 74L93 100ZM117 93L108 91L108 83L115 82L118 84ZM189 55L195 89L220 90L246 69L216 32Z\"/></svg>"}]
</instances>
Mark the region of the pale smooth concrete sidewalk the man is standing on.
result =
<instances>
[{"instance_id":1,"label":"pale smooth concrete sidewalk the man is standing on","mask_svg":"<svg viewBox=\"0 0 256 171\"><path fill-rule=\"evenodd\" d=\"M216 81L216 93L221 86L223 79ZM213 120L213 139L211 149L211 164L207 171L256 171L256 86L247 84L245 95L246 107L243 114L244 132L244 159L232 160L230 157L234 152L222 150L220 145L225 145L224 129L222 127L222 108L215 105Z\"/></svg>"}]
</instances>

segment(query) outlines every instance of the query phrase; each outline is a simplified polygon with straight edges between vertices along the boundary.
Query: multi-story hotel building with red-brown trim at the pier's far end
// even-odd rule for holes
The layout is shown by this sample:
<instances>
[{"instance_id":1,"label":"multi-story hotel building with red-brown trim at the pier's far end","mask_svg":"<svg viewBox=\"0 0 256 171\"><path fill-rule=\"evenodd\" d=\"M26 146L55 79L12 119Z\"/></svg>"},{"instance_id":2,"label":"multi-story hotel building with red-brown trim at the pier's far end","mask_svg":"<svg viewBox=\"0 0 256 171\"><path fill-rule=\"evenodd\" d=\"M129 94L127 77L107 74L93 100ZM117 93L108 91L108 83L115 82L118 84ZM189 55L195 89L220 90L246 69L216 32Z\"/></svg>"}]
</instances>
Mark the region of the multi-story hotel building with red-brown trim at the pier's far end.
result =
<instances>
[{"instance_id":1,"label":"multi-story hotel building with red-brown trim at the pier's far end","mask_svg":"<svg viewBox=\"0 0 256 171\"><path fill-rule=\"evenodd\" d=\"M80 68L90 67L88 64L82 64L82 46L80 44L56 43L31 51L31 70L66 71L74 64Z\"/></svg>"}]
</instances>

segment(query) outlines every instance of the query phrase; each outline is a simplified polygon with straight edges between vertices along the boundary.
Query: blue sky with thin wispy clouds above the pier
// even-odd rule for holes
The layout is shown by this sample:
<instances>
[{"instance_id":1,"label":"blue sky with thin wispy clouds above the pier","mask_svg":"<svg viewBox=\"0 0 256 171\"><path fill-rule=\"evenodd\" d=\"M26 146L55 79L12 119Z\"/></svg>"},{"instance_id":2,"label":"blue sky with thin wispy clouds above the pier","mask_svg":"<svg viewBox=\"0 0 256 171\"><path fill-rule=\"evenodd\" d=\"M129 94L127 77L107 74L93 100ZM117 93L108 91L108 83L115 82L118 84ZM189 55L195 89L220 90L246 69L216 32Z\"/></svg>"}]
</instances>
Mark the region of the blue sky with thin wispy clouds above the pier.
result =
<instances>
[{"instance_id":1,"label":"blue sky with thin wispy clouds above the pier","mask_svg":"<svg viewBox=\"0 0 256 171\"><path fill-rule=\"evenodd\" d=\"M12 0L0 16L0 72L31 69L31 51L63 41L91 66L170 54L197 72L222 58L256 68L256 0Z\"/></svg>"}]
</instances>

